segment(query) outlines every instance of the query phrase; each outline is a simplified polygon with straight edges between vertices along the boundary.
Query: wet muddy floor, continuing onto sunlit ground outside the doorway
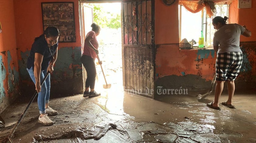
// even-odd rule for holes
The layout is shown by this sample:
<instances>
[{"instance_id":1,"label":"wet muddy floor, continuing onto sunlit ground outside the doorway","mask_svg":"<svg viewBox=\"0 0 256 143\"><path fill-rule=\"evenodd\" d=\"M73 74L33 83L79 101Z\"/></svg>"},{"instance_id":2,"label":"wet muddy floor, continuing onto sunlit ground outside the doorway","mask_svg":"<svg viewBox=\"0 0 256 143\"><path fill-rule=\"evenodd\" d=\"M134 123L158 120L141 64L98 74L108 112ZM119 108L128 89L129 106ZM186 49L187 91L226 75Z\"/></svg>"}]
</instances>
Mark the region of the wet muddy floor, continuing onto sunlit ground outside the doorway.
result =
<instances>
[{"instance_id":1,"label":"wet muddy floor, continuing onto sunlit ground outside the doorway","mask_svg":"<svg viewBox=\"0 0 256 143\"><path fill-rule=\"evenodd\" d=\"M119 47L110 45L109 47ZM107 47L105 47L107 49ZM108 49L109 50L109 49ZM39 111L36 99L16 129L14 143L251 143L256 142L255 90L236 91L230 109L210 109L212 93L198 102L202 91L188 91L188 95L156 96L154 99L123 91L121 49L111 54L101 52L103 69L110 89L105 84L101 68L95 86L101 96L80 95L50 98L49 106L58 111L49 115L54 125L37 122ZM108 60L106 60L108 59ZM110 60L111 59L111 60ZM28 93L29 94L29 93ZM32 95L31 95L32 96ZM220 102L227 100L224 91ZM5 128L0 140L8 136L29 99L21 97L1 113Z\"/></svg>"}]
</instances>

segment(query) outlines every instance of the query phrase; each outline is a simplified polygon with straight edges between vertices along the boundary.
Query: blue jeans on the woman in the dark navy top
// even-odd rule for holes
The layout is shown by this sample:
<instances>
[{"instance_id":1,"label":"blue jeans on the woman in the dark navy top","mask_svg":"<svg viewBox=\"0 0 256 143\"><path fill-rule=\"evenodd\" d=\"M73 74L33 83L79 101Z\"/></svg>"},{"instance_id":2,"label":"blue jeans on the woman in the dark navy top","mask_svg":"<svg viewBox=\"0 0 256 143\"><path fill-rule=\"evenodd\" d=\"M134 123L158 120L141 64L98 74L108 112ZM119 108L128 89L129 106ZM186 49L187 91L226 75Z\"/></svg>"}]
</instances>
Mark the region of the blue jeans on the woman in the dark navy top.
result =
<instances>
[{"instance_id":1,"label":"blue jeans on the woman in the dark navy top","mask_svg":"<svg viewBox=\"0 0 256 143\"><path fill-rule=\"evenodd\" d=\"M30 69L27 68L27 71L29 72L29 76L33 80L34 84L36 84L33 68L32 67ZM41 70L40 81L43 81L43 78L46 74L47 74L47 70ZM49 102L49 98L50 98L50 74L46 78L45 82L42 84L41 92L38 93L37 104L38 104L40 114L45 114L45 103Z\"/></svg>"}]
</instances>

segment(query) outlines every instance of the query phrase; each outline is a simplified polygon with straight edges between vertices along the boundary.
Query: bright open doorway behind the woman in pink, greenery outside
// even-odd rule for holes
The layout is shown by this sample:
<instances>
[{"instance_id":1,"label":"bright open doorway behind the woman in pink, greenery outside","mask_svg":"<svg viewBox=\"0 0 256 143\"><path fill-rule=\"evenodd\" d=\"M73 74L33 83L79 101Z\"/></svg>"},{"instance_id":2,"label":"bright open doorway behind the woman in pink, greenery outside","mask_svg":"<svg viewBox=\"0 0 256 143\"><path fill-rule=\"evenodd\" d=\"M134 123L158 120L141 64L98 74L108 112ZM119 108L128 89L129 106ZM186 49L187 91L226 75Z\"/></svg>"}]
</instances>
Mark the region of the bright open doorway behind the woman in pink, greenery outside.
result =
<instances>
[{"instance_id":1,"label":"bright open doorway behind the woman in pink, greenery outside","mask_svg":"<svg viewBox=\"0 0 256 143\"><path fill-rule=\"evenodd\" d=\"M86 34L92 30L91 24L95 22L101 27L97 41L99 42L99 58L102 61L106 81L112 85L111 88L123 90L121 2L81 2L80 4L82 47ZM98 60L96 59L95 62L97 64ZM106 82L100 65L97 64L96 70L95 89L102 89L102 85ZM84 73L86 73L85 70ZM84 81L85 79L86 74L84 74Z\"/></svg>"}]
</instances>

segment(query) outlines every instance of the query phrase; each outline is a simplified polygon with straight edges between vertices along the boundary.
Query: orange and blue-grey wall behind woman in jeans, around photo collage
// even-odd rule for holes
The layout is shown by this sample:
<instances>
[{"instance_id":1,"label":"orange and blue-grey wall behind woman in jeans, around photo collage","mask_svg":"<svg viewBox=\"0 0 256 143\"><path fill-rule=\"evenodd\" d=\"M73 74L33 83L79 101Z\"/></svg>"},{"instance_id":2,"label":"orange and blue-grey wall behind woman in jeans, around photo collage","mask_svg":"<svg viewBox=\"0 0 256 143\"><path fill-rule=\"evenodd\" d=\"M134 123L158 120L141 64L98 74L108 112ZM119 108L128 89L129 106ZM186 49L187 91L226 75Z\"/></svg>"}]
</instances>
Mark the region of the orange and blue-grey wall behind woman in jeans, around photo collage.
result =
<instances>
[{"instance_id":1,"label":"orange and blue-grey wall behind woman in jeans, around photo collage","mask_svg":"<svg viewBox=\"0 0 256 143\"><path fill-rule=\"evenodd\" d=\"M35 37L43 34L41 2L74 3L76 42L59 43L57 61L54 65L54 72L51 73L51 95L79 94L83 90L83 75L80 62L81 36L78 0L14 0L21 93L27 94L30 90L34 90L32 88L34 84L26 70L26 62Z\"/></svg>"}]
</instances>

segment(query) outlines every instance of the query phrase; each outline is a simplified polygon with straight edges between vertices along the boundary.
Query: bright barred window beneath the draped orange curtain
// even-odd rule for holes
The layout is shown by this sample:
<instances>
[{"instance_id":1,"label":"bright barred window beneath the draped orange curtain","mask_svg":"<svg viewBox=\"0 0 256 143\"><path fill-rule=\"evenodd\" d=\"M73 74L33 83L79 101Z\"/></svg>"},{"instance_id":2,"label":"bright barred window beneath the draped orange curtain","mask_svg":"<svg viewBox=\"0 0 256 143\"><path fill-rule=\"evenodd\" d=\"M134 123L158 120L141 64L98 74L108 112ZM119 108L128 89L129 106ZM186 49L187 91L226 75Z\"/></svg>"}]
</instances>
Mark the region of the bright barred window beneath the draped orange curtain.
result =
<instances>
[{"instance_id":1,"label":"bright barred window beneath the draped orange curtain","mask_svg":"<svg viewBox=\"0 0 256 143\"><path fill-rule=\"evenodd\" d=\"M212 18L215 16L229 17L229 5L215 5L217 13L213 13ZM188 41L194 39L198 47L199 37L201 31L204 34L205 47L213 46L213 34L216 31L213 28L212 18L206 15L206 8L197 13L192 13L185 9L184 6L179 5L179 36L180 41L186 38Z\"/></svg>"}]
</instances>

